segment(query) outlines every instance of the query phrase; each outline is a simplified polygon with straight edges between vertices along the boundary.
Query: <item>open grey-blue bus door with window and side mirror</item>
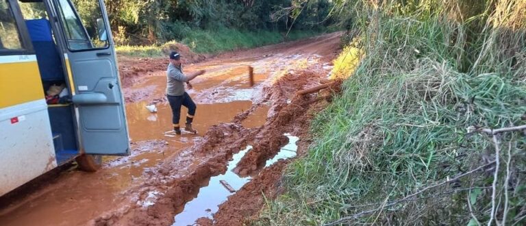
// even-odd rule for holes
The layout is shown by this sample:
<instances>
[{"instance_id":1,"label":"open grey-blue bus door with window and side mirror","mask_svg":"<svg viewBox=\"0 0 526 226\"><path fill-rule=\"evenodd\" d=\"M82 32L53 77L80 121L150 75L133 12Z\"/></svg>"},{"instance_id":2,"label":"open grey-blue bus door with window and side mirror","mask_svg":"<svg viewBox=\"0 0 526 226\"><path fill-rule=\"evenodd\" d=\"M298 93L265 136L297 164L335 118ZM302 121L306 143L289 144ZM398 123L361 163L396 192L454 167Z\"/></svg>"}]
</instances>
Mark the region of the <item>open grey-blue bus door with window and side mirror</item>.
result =
<instances>
[{"instance_id":1,"label":"open grey-blue bus door with window and side mirror","mask_svg":"<svg viewBox=\"0 0 526 226\"><path fill-rule=\"evenodd\" d=\"M124 100L103 0L83 5L53 0L62 30L64 62L84 153L129 154Z\"/></svg>"}]
</instances>

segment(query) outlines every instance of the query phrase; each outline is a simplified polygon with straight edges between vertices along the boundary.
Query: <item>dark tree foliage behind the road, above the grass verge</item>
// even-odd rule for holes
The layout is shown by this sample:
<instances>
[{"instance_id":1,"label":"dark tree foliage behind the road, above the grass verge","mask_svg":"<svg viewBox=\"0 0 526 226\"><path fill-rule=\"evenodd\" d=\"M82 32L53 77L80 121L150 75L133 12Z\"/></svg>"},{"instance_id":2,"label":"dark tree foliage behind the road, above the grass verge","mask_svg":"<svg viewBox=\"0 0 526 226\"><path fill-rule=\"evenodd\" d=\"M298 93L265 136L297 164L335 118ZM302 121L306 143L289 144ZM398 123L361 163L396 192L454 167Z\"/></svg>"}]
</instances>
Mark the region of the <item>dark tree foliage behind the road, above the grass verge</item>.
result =
<instances>
[{"instance_id":1,"label":"dark tree foliage behind the road, above the grass verge","mask_svg":"<svg viewBox=\"0 0 526 226\"><path fill-rule=\"evenodd\" d=\"M75 0L84 15L94 4L93 1ZM324 21L330 8L329 0L312 3L303 0L106 0L105 5L118 45L183 40L194 29L283 32L290 28L320 29L330 22ZM291 10L291 5L302 5L305 10L298 14ZM286 13L273 20L271 14L279 10Z\"/></svg>"}]
</instances>

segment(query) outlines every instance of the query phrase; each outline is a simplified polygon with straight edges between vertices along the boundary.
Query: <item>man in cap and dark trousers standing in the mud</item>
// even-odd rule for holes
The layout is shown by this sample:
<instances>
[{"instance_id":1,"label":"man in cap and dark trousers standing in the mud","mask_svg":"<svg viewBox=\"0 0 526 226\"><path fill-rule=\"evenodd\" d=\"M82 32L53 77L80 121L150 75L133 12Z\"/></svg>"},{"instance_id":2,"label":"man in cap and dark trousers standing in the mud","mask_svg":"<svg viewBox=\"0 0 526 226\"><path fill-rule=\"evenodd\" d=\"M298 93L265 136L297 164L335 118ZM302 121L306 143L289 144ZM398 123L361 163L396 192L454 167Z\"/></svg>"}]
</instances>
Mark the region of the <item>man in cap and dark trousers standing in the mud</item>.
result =
<instances>
[{"instance_id":1,"label":"man in cap and dark trousers standing in the mud","mask_svg":"<svg viewBox=\"0 0 526 226\"><path fill-rule=\"evenodd\" d=\"M181 65L181 55L175 51L170 53L170 64L168 64L168 70L166 70L166 97L168 97L168 102L172 108L173 131L175 131L175 134L177 135L181 134L181 129L179 127L181 105L184 105L186 108L188 108L184 130L192 134L197 134L197 130L192 128L192 121L194 120L197 106L195 105L194 101L192 101L190 95L186 93L184 89L184 83L186 83L186 87L188 89L192 89L192 84L190 84L190 81L199 75L203 75L204 73L205 71L201 70L185 75Z\"/></svg>"}]
</instances>

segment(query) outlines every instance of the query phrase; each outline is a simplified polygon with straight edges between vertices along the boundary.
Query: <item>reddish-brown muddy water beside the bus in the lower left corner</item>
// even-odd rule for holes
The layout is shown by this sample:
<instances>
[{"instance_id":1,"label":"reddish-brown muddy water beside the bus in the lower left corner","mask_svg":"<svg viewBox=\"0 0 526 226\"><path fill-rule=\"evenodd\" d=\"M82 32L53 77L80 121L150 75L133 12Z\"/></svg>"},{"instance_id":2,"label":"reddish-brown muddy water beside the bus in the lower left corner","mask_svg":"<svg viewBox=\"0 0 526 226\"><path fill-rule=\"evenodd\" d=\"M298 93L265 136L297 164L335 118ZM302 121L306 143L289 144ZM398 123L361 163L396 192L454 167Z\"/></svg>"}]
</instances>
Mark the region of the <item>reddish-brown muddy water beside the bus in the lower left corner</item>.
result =
<instances>
[{"instance_id":1,"label":"reddish-brown muddy water beside the bus in the lower left corner","mask_svg":"<svg viewBox=\"0 0 526 226\"><path fill-rule=\"evenodd\" d=\"M140 183L145 169L157 164L166 150L164 142L159 140L136 142L132 149L130 156L105 158L104 170L96 173L70 168L58 178L39 181L55 189L44 188L23 202L0 209L0 225L86 225L86 219L117 205L122 198L116 194ZM0 202L0 206L2 204Z\"/></svg>"}]
</instances>

